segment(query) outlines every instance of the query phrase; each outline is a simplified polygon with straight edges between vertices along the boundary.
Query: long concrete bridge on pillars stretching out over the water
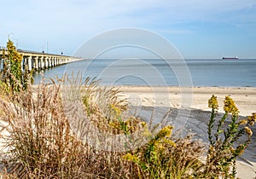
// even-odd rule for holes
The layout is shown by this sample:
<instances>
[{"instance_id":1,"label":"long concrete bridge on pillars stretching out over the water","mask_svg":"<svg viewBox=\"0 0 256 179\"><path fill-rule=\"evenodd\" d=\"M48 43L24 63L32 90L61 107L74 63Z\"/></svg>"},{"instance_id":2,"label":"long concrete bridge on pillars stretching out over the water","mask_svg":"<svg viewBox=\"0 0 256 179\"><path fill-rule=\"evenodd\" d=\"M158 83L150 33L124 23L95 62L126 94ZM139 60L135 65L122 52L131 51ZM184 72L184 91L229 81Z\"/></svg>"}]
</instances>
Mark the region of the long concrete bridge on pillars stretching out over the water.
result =
<instances>
[{"instance_id":1,"label":"long concrete bridge on pillars stretching out over the water","mask_svg":"<svg viewBox=\"0 0 256 179\"><path fill-rule=\"evenodd\" d=\"M0 46L0 71L3 70L3 49L6 50L5 53L8 53L5 47ZM32 69L34 69L35 71L39 71L50 67L60 66L66 63L83 60L82 58L74 56L54 55L24 49L18 49L17 51L20 53L20 55L22 55L22 70L24 70L25 66L27 66L29 71L32 71Z\"/></svg>"}]
</instances>

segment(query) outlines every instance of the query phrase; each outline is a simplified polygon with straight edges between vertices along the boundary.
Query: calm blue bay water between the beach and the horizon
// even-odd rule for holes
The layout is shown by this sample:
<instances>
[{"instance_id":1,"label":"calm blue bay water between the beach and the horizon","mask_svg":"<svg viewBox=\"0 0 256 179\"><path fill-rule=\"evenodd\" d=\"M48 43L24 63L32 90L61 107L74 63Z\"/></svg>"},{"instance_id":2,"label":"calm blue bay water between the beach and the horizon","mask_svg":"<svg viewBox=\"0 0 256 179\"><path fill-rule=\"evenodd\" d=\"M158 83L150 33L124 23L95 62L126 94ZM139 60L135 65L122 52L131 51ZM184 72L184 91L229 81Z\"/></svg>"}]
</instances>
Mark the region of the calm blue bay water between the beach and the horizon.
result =
<instances>
[{"instance_id":1,"label":"calm blue bay water between the beach and the horizon","mask_svg":"<svg viewBox=\"0 0 256 179\"><path fill-rule=\"evenodd\" d=\"M82 72L83 77L101 78L102 84L154 86L256 87L256 60L110 60L78 61L41 71L45 78L65 72ZM187 68L188 67L188 68ZM34 73L35 84L42 80ZM183 83L184 82L184 83Z\"/></svg>"}]
</instances>

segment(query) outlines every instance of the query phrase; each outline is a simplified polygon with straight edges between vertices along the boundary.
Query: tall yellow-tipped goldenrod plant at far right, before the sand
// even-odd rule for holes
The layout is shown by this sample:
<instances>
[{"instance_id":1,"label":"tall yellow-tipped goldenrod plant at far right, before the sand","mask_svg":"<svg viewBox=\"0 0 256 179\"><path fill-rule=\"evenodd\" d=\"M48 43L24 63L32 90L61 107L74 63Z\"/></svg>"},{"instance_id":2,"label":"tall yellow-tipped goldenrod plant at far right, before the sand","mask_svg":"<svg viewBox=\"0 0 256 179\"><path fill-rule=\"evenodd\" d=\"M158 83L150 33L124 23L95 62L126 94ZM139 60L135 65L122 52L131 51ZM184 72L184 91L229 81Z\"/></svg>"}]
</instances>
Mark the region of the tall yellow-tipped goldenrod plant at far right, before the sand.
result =
<instances>
[{"instance_id":1,"label":"tall yellow-tipped goldenrod plant at far right, before the sand","mask_svg":"<svg viewBox=\"0 0 256 179\"><path fill-rule=\"evenodd\" d=\"M207 153L204 177L235 178L236 158L244 152L251 142L253 132L250 127L256 121L256 113L253 113L247 119L239 120L239 111L235 102L230 96L226 96L224 115L219 121L216 121L215 118L218 113L217 97L212 95L208 105L212 108L212 115L208 123L210 147ZM229 114L230 121L228 120ZM214 124L216 123L215 127ZM246 138L242 136L246 136Z\"/></svg>"}]
</instances>

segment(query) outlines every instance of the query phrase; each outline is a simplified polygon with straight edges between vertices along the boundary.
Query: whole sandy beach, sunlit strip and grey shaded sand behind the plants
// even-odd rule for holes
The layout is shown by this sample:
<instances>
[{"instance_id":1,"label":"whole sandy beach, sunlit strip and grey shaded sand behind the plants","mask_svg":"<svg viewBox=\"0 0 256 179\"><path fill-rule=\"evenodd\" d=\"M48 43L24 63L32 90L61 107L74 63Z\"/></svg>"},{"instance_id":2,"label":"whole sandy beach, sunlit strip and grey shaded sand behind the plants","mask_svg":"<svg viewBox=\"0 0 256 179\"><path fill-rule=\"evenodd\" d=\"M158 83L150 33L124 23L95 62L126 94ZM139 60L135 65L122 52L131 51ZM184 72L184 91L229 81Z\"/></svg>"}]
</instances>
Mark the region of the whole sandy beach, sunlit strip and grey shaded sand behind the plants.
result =
<instances>
[{"instance_id":1,"label":"whole sandy beach, sunlit strip and grey shaded sand behind the plants","mask_svg":"<svg viewBox=\"0 0 256 179\"><path fill-rule=\"evenodd\" d=\"M240 110L240 118L256 112L256 88L244 87L145 87L121 86L122 95L131 105L131 113L148 120L154 111L155 122L165 116L171 107L172 124L180 126L195 136L207 141L207 122L210 116L208 99L214 94L218 96L219 113L223 113L223 101L230 95ZM185 118L185 119L184 119ZM168 120L168 119L167 119ZM256 176L256 128L253 127L253 141L245 153L238 158L237 176L248 179Z\"/></svg>"}]
</instances>

